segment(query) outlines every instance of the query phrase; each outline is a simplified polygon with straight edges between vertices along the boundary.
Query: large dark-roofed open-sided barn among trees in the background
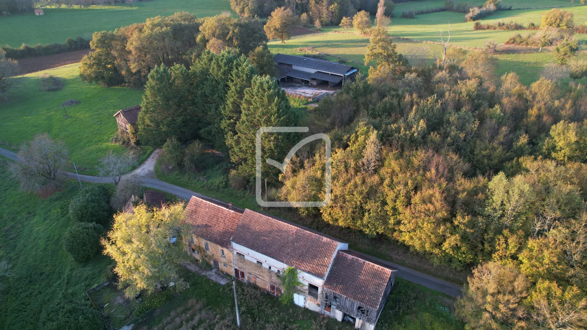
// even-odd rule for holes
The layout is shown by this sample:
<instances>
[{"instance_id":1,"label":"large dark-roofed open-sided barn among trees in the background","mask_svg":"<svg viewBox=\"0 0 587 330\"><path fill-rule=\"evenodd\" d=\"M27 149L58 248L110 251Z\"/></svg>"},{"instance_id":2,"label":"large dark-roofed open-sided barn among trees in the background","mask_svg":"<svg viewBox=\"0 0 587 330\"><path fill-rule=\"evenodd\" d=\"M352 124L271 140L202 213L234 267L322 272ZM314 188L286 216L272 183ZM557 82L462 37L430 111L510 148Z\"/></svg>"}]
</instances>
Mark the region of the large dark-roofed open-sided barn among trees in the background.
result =
<instances>
[{"instance_id":1,"label":"large dark-roofed open-sided barn among trees in the background","mask_svg":"<svg viewBox=\"0 0 587 330\"><path fill-rule=\"evenodd\" d=\"M303 82L309 85L328 83L328 87L340 87L347 80L354 81L359 69L329 60L276 54L273 57L277 68L277 80L280 82Z\"/></svg>"}]
</instances>

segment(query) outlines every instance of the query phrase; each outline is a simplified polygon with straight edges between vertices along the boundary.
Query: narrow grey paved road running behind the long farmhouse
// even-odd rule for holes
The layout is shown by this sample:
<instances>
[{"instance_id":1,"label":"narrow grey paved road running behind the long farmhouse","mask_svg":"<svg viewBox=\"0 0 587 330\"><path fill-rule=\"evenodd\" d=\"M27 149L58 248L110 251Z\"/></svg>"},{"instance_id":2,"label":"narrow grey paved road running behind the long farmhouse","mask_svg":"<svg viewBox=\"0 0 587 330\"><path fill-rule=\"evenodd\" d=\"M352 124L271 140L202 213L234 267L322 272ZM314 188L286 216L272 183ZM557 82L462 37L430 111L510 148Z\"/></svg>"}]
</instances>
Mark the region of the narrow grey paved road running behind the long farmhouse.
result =
<instances>
[{"instance_id":1,"label":"narrow grey paved road running behind the long farmhouse","mask_svg":"<svg viewBox=\"0 0 587 330\"><path fill-rule=\"evenodd\" d=\"M205 197L214 200L214 198L198 194L195 191L187 190L185 188L174 186L173 184L154 179L154 166L157 161L157 157L160 156L160 154L160 150L153 151L151 156L149 156L149 158L146 161L144 161L144 163L141 164L141 166L139 166L136 170L126 175L136 176L145 187L166 191L167 193L174 194L179 198L183 198L184 200L190 200L192 196ZM9 159L12 159L14 161L19 161L18 154L6 150L4 148L0 148L0 155L8 157ZM65 177L77 180L77 176L75 173L65 172ZM79 178L82 181L92 183L114 183L113 179L108 177L86 176L80 174ZM451 297L459 297L461 295L462 288L458 285L454 285L450 282L440 280L436 277L431 277L430 275L423 274L419 271L415 271L410 268L394 264L393 262L389 262L380 258L373 257L368 254L364 254L362 252L355 252L364 255L365 257L370 258L374 261L396 268L398 270L396 276L399 278L403 278L406 281L410 281L416 284L423 285L424 287L443 292L444 294L450 295Z\"/></svg>"}]
</instances>

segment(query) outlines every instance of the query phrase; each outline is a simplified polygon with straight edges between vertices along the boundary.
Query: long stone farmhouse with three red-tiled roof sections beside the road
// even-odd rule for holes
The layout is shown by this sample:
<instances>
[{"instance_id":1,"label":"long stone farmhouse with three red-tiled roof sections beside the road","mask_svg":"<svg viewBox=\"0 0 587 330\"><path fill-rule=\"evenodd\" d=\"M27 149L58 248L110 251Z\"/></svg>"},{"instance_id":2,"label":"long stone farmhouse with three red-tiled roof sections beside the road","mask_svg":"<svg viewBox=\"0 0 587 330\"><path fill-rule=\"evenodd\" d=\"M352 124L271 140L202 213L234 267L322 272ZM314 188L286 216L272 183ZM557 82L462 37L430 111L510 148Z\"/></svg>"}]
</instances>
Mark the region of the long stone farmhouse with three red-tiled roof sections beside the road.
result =
<instances>
[{"instance_id":1,"label":"long stone farmhouse with three red-tiled roof sections beside the road","mask_svg":"<svg viewBox=\"0 0 587 330\"><path fill-rule=\"evenodd\" d=\"M396 270L350 251L345 241L269 214L195 196L186 210L193 234L184 240L197 260L275 296L283 289L279 276L294 267L302 282L296 305L375 328Z\"/></svg>"}]
</instances>

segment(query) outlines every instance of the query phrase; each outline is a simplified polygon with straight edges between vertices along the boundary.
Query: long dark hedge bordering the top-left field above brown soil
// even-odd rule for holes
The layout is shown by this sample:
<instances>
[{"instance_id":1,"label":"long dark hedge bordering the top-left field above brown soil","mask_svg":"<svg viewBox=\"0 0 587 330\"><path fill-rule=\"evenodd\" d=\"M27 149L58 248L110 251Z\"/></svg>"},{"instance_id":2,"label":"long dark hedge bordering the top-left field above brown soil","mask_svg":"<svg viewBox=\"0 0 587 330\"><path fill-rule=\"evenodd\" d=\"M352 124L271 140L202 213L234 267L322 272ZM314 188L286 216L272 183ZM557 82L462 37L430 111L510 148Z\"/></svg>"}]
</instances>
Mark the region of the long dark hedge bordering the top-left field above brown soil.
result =
<instances>
[{"instance_id":1,"label":"long dark hedge bordering the top-left field above brown soil","mask_svg":"<svg viewBox=\"0 0 587 330\"><path fill-rule=\"evenodd\" d=\"M65 43L51 43L50 45L41 45L39 43L33 47L23 43L20 48L2 47L6 51L6 57L11 59L33 58L89 48L90 41L81 36L77 36L76 39L68 38Z\"/></svg>"}]
</instances>

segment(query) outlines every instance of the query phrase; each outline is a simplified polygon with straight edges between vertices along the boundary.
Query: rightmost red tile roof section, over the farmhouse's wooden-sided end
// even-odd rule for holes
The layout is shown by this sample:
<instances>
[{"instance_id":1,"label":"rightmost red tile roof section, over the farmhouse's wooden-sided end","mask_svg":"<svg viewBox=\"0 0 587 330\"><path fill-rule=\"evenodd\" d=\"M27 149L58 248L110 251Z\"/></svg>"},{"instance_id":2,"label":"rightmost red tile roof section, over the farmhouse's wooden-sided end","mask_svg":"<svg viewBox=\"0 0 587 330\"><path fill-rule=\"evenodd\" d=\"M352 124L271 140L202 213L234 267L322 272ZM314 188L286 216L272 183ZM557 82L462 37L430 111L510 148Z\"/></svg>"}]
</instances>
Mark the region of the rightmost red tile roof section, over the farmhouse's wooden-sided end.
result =
<instances>
[{"instance_id":1,"label":"rightmost red tile roof section, over the farmhouse's wooden-sided end","mask_svg":"<svg viewBox=\"0 0 587 330\"><path fill-rule=\"evenodd\" d=\"M324 287L347 298L379 309L392 268L348 250L336 254Z\"/></svg>"}]
</instances>

